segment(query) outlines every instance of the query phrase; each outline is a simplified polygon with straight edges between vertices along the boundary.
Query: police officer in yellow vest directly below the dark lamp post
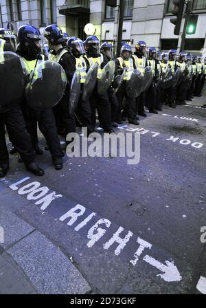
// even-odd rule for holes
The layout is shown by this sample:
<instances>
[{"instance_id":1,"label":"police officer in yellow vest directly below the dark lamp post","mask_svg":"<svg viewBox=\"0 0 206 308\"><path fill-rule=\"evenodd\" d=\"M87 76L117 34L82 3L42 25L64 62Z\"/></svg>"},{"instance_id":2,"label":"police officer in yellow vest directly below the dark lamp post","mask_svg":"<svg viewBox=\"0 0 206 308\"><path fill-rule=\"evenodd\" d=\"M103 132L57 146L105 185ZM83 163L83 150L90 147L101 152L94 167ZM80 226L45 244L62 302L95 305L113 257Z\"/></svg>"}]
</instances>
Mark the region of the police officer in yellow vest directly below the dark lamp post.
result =
<instances>
[{"instance_id":1,"label":"police officer in yellow vest directly below the dark lamp post","mask_svg":"<svg viewBox=\"0 0 206 308\"><path fill-rule=\"evenodd\" d=\"M128 44L124 44L120 50L120 57L115 60L115 65L119 72L123 72L124 67L124 81L117 91L117 98L119 100L119 109L117 112L117 123L122 123L123 118L127 117L130 124L139 125L136 117L135 98L128 97L126 93L126 82L130 80L133 69L135 69L135 63L132 55L132 48ZM125 99L124 111L122 112L122 104ZM125 120L125 119L124 119Z\"/></svg>"}]
</instances>

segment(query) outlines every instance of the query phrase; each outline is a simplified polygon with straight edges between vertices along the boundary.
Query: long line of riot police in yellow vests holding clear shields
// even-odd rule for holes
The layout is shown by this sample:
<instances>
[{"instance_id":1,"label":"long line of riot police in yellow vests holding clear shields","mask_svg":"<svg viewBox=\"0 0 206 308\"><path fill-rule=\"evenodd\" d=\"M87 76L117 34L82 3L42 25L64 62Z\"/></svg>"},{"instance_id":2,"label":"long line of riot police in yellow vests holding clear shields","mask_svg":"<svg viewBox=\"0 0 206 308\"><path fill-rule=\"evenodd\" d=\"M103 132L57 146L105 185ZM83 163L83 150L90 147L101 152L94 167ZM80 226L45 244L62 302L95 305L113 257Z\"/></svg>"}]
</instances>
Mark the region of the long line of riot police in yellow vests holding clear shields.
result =
<instances>
[{"instance_id":1,"label":"long line of riot police in yellow vests holding clear shields","mask_svg":"<svg viewBox=\"0 0 206 308\"><path fill-rule=\"evenodd\" d=\"M201 58L176 51L159 53L139 41L132 52L123 43L119 56L113 45L88 36L86 41L62 34L57 25L48 25L42 36L32 25L18 30L19 44L12 49L12 32L0 30L0 177L9 168L5 124L11 153L19 152L27 170L44 171L34 162L42 155L38 128L45 137L54 167L62 168L64 152L58 135L76 132L76 126L94 131L97 112L106 133L115 132L128 120L139 125L139 117L161 111L162 104L184 104L192 94L201 95L205 64ZM14 53L15 52L15 53ZM66 141L66 145L69 141Z\"/></svg>"}]
</instances>

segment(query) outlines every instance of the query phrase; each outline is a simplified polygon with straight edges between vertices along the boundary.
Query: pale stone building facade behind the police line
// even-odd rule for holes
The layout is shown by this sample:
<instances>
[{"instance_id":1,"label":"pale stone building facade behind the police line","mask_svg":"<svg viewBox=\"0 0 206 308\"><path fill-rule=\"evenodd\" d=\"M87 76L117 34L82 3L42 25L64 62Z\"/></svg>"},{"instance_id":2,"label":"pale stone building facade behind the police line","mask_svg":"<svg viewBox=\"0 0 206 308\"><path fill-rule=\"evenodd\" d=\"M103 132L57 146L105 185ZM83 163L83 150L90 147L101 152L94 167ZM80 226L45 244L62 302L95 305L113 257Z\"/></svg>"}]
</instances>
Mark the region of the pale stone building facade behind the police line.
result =
<instances>
[{"instance_id":1,"label":"pale stone building facade behind the police line","mask_svg":"<svg viewBox=\"0 0 206 308\"><path fill-rule=\"evenodd\" d=\"M58 23L63 32L85 39L84 25L90 22L101 41L117 41L119 8L106 6L104 0L0 0L0 4L0 25L12 22L14 31L29 23L43 32L45 25ZM132 47L142 40L161 50L179 48L184 19L179 36L174 35L171 10L172 0L125 0L122 41ZM193 0L192 14L198 15L196 32L186 35L185 50L206 54L206 0Z\"/></svg>"}]
</instances>

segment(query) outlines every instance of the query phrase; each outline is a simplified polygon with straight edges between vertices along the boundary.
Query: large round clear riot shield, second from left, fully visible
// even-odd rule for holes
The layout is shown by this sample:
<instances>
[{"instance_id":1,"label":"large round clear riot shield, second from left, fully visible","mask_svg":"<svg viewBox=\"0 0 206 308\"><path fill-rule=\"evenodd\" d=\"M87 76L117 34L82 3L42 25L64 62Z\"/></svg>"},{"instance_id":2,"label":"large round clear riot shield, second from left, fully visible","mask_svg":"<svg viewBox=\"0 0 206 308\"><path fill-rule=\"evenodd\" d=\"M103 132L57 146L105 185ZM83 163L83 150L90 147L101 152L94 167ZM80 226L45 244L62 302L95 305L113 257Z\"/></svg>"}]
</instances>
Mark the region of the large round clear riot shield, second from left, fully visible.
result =
<instances>
[{"instance_id":1,"label":"large round clear riot shield, second from left, fully visible","mask_svg":"<svg viewBox=\"0 0 206 308\"><path fill-rule=\"evenodd\" d=\"M27 104L35 110L43 111L54 107L65 93L67 76L60 64L43 61L30 74L26 87Z\"/></svg>"}]
</instances>

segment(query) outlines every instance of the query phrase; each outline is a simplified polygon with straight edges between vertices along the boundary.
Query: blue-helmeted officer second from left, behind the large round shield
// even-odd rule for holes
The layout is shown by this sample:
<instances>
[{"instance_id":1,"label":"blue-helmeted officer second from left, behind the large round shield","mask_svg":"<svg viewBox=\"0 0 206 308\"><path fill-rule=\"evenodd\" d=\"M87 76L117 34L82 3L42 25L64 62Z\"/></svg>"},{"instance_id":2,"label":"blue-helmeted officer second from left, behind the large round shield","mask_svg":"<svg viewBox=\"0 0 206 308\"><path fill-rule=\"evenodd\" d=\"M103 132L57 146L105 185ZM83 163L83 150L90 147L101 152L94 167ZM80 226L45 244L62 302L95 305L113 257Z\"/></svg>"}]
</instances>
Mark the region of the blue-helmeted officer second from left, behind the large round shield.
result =
<instances>
[{"instance_id":1,"label":"blue-helmeted officer second from left, behind the large round shield","mask_svg":"<svg viewBox=\"0 0 206 308\"><path fill-rule=\"evenodd\" d=\"M18 30L18 39L19 47L16 52L25 59L30 71L34 72L36 65L40 64L44 58L41 54L41 34L32 25L22 25ZM22 109L27 131L30 133L34 149L38 151L38 123L39 129L47 141L54 167L56 170L60 170L62 168L62 157L64 153L60 146L52 109L46 109L44 111L34 110L27 104L26 100L22 103Z\"/></svg>"}]
</instances>

